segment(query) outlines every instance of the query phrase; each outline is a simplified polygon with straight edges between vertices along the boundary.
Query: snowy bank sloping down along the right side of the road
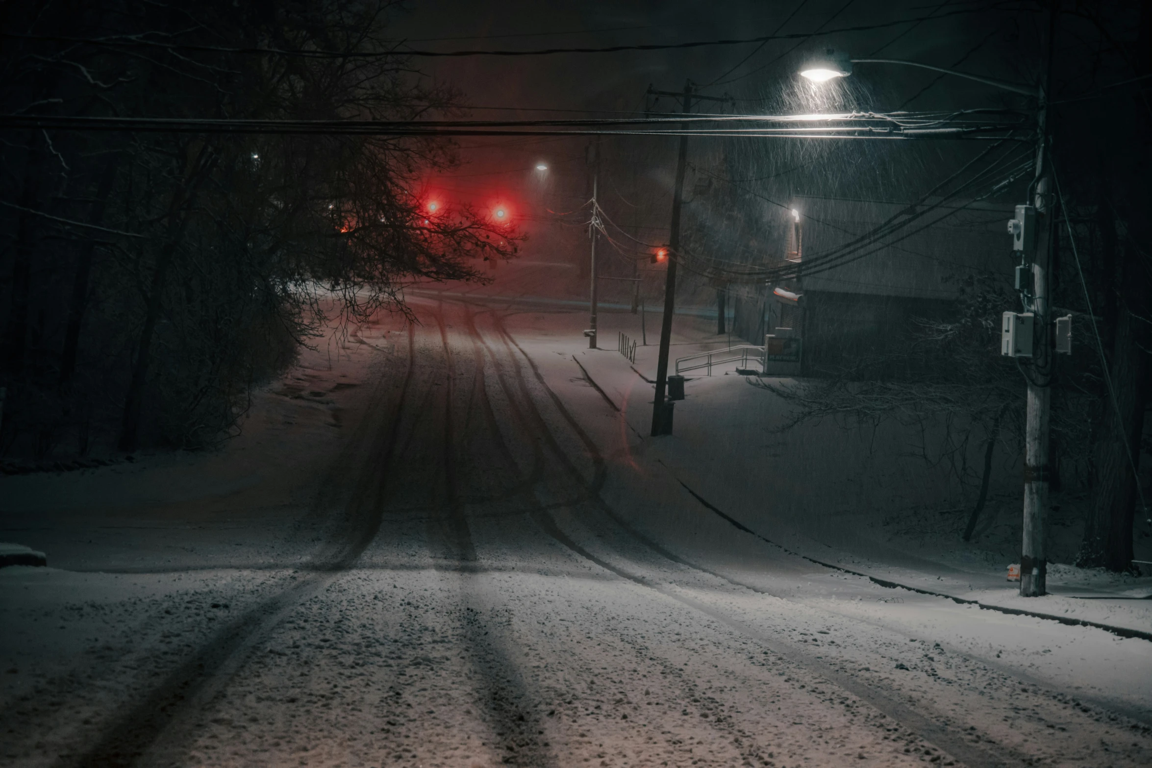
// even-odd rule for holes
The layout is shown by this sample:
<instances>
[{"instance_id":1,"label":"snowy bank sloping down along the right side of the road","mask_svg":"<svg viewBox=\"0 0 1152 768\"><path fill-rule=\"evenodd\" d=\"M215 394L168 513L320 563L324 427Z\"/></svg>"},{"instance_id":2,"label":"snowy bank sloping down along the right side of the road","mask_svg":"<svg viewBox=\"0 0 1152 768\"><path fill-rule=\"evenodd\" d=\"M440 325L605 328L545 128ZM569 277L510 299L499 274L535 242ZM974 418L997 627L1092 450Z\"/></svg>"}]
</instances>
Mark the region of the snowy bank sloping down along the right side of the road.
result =
<instances>
[{"instance_id":1,"label":"snowy bank sloping down along the right side of the road","mask_svg":"<svg viewBox=\"0 0 1152 768\"><path fill-rule=\"evenodd\" d=\"M638 325L627 313L612 319L629 334ZM714 321L679 322L685 327L684 340L673 347L672 358L725 348L726 340L711 333ZM614 350L573 344L570 353L634 435L647 434L652 402L647 380L654 378L657 348L638 349L635 364ZM947 463L926 462L916 431L893 423L846 427L827 419L780 432L788 420L787 403L749 386L735 368L735 364L721 366L711 377L695 373L687 382L685 400L676 404L675 436L650 441L654 451L650 458L702 504L820 563L986 607L1152 636L1152 600L1144 599L1152 595L1152 577L1056 562L1048 571L1052 594L1031 600L1016 595L1016 585L1006 579L1008 564L1018 562L1021 538L1015 457L996 457L993 501L973 541L965 543L961 531L975 488L957 482ZM1055 557L1070 558L1079 524L1054 504L1052 550ZM1152 538L1142 532L1137 557L1150 555Z\"/></svg>"}]
</instances>

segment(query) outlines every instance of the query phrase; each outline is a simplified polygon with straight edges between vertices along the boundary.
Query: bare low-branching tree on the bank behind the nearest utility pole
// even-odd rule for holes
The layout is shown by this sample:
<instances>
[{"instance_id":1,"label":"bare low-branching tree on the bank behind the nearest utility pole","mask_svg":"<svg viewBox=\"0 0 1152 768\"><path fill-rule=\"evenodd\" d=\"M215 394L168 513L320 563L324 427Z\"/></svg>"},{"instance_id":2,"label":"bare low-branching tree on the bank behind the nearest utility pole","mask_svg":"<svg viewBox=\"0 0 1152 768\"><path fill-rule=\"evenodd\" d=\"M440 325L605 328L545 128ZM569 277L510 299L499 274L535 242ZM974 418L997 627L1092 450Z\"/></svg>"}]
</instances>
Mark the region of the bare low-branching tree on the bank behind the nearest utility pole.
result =
<instances>
[{"instance_id":1,"label":"bare low-branching tree on the bank behind the nearest utility pole","mask_svg":"<svg viewBox=\"0 0 1152 768\"><path fill-rule=\"evenodd\" d=\"M996 446L1009 454L1022 449L1024 387L1011 359L999 355L1000 314L1013 301L1008 287L991 274L958 282L954 315L917 319L894 351L851 360L826 378L753 383L793 404L785 431L825 418L844 428L885 421L914 428L923 435L919 449L927 464L943 463L962 485L979 484L963 534L968 541L987 501ZM1052 433L1067 466L1086 464L1081 412L1091 400L1082 388L1066 388L1056 400L1063 406L1054 409ZM982 461L973 464L976 451Z\"/></svg>"}]
</instances>

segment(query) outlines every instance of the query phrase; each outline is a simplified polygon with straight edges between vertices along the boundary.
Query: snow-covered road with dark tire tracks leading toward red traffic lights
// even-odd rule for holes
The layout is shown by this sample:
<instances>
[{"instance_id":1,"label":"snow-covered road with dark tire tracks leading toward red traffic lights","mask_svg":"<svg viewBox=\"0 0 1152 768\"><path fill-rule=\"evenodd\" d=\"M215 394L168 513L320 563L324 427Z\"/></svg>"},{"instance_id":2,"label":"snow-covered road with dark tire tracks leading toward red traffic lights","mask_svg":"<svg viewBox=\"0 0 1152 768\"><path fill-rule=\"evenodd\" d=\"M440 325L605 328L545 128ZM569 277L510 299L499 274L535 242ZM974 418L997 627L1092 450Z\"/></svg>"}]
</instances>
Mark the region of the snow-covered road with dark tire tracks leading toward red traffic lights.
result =
<instances>
[{"instance_id":1,"label":"snow-covered road with dark tire tracks leading toward red traffic lights","mask_svg":"<svg viewBox=\"0 0 1152 768\"><path fill-rule=\"evenodd\" d=\"M5 765L1152 763L1152 644L742 534L507 310L414 306L290 522L5 569Z\"/></svg>"}]
</instances>

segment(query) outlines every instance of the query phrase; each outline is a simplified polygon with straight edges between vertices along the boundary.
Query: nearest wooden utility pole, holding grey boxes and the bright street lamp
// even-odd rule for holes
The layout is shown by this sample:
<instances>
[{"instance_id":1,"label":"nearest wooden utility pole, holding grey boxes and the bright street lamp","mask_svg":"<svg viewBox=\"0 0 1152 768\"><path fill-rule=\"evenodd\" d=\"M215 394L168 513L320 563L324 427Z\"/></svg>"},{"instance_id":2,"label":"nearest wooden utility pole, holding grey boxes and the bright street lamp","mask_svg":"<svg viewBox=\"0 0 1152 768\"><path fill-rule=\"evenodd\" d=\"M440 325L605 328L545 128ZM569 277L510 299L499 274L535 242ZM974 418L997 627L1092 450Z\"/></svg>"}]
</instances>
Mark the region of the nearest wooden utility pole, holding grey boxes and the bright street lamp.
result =
<instances>
[{"instance_id":1,"label":"nearest wooden utility pole, holding grey boxes and the bright street lamp","mask_svg":"<svg viewBox=\"0 0 1152 768\"><path fill-rule=\"evenodd\" d=\"M1052 382L1052 318L1048 312L1048 265L1055 234L1052 205L1052 174L1048 165L1048 100L1055 50L1056 13L1048 10L1048 61L1040 86L1037 129L1040 135L1036 154L1036 254L1032 258L1033 333L1038 343L1031 374L1028 377L1026 424L1024 427L1024 533L1020 554L1020 595L1047 594L1047 507L1048 507L1048 417ZM1026 309L1026 307L1025 307Z\"/></svg>"}]
</instances>

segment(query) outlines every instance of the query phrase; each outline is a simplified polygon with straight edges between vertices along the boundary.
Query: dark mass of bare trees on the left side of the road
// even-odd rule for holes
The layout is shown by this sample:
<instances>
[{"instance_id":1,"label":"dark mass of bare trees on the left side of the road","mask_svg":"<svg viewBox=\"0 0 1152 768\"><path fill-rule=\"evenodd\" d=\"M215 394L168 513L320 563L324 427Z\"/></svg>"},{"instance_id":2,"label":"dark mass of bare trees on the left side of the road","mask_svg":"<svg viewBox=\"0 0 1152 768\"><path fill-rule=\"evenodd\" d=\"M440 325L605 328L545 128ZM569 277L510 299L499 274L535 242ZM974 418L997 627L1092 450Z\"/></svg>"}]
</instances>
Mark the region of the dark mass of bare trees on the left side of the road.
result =
<instances>
[{"instance_id":1,"label":"dark mass of bare trees on the left side of the road","mask_svg":"<svg viewBox=\"0 0 1152 768\"><path fill-rule=\"evenodd\" d=\"M392 54L394 5L3 3L0 109L445 114L454 94ZM5 131L0 455L211 444L326 320L402 310L415 279L477 277L472 259L515 245L467 207L425 220L422 182L454 162L422 139Z\"/></svg>"}]
</instances>

